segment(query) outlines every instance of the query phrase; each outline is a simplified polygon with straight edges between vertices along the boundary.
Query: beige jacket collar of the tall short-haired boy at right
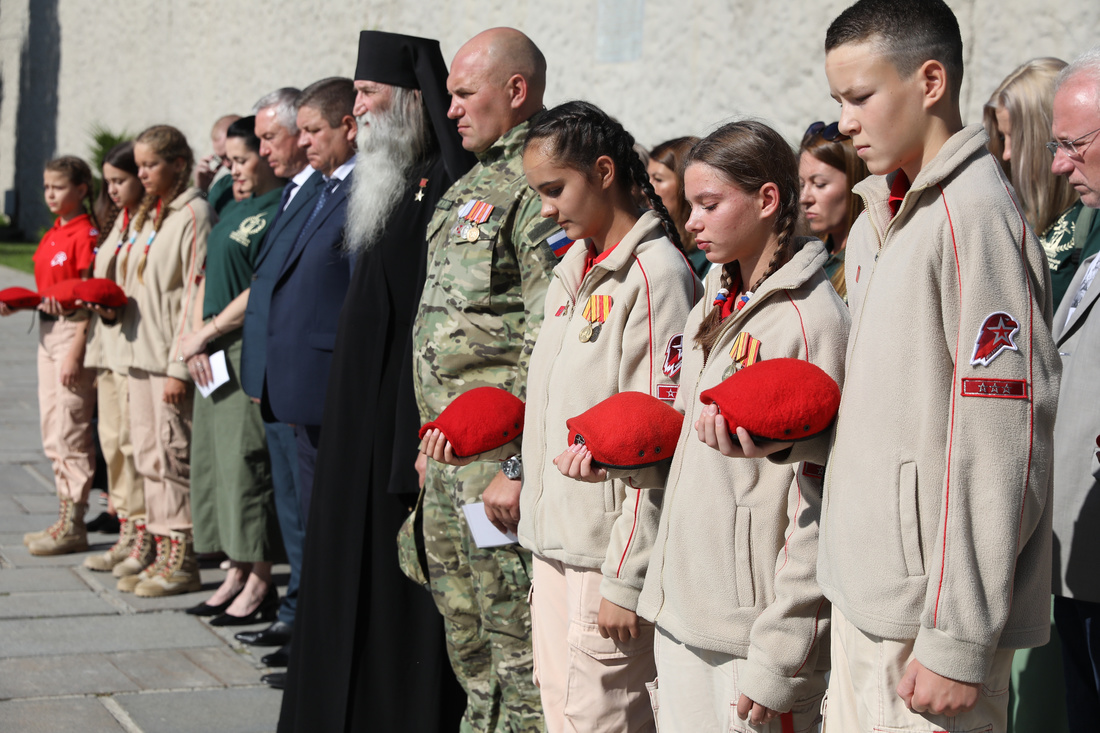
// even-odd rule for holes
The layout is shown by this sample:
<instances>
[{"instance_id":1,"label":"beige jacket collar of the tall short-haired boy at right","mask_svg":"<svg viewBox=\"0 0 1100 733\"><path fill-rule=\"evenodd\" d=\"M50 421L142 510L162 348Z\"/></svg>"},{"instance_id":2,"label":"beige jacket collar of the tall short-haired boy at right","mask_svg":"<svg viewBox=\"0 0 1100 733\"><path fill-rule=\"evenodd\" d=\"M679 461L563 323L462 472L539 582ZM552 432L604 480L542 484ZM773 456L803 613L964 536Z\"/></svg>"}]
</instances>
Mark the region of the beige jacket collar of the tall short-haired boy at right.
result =
<instances>
[{"instance_id":1,"label":"beige jacket collar of the tall short-haired boy at right","mask_svg":"<svg viewBox=\"0 0 1100 733\"><path fill-rule=\"evenodd\" d=\"M871 218L875 229L884 236L893 221L901 221L909 215L923 190L942 184L975 155L989 155L988 144L989 135L981 124L967 125L948 138L936 156L916 174L916 179L905 193L897 215L890 214L890 205L887 203L890 198L890 186L898 176L897 171L884 176L868 176L851 190L864 199L867 216Z\"/></svg>"}]
</instances>

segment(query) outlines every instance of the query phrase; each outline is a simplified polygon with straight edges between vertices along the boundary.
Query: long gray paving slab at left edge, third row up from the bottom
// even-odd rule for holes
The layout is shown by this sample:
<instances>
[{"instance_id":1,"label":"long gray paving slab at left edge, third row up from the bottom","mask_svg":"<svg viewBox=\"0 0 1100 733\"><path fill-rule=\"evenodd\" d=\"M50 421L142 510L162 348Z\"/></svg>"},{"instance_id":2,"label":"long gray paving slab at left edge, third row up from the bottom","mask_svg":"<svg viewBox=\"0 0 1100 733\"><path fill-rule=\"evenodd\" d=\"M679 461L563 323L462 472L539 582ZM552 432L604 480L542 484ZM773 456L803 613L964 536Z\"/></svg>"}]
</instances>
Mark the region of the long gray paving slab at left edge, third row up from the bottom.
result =
<instances>
[{"instance_id":1,"label":"long gray paving slab at left edge, third row up from the bottom","mask_svg":"<svg viewBox=\"0 0 1100 733\"><path fill-rule=\"evenodd\" d=\"M217 639L191 616L179 613L0 621L0 658L180 649Z\"/></svg>"}]
</instances>

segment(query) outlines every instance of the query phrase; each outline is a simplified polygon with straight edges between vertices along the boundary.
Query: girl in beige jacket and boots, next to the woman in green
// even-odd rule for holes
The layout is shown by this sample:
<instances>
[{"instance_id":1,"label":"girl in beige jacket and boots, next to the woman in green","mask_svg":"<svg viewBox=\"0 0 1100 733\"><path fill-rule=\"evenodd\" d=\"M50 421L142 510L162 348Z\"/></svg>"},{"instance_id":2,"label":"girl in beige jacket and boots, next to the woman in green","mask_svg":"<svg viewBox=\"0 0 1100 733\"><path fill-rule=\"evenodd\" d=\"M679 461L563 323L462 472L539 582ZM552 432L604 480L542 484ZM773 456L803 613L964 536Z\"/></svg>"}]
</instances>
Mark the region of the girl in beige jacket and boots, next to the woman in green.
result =
<instances>
[{"instance_id":1,"label":"girl in beige jacket and boots, next to the woman in green","mask_svg":"<svg viewBox=\"0 0 1100 733\"><path fill-rule=\"evenodd\" d=\"M130 423L134 464L145 485L145 526L156 553L140 572L119 579L121 591L173 595L201 588L191 539L190 437L194 385L182 360L207 234L217 216L188 187L194 156L173 127L148 128L134 141L145 187L119 275L130 296L123 331L133 344Z\"/></svg>"}]
</instances>

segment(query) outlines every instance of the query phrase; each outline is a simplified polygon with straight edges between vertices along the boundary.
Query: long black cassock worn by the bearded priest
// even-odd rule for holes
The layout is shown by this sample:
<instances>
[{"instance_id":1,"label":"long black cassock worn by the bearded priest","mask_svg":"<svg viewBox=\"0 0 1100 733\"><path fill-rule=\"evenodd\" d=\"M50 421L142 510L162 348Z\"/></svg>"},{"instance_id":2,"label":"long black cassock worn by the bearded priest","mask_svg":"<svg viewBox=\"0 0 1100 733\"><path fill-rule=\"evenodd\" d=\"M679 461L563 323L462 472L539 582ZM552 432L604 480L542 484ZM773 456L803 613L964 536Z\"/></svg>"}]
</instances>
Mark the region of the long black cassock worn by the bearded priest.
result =
<instances>
[{"instance_id":1,"label":"long black cassock worn by the bearded priest","mask_svg":"<svg viewBox=\"0 0 1100 733\"><path fill-rule=\"evenodd\" d=\"M430 593L402 573L396 541L419 493L411 332L425 232L451 183L439 157L414 166L385 234L360 253L348 288L279 733L457 731L465 708L442 617Z\"/></svg>"}]
</instances>

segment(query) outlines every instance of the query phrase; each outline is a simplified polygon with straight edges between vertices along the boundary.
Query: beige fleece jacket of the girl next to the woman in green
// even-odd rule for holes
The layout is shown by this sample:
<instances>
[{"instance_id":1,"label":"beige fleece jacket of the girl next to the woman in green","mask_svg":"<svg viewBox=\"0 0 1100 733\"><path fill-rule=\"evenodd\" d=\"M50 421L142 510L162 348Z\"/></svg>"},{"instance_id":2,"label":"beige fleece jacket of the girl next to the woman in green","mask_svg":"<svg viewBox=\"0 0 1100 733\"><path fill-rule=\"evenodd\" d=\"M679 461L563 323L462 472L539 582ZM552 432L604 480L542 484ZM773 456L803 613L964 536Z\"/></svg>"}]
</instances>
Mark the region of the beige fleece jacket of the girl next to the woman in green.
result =
<instances>
[{"instance_id":1,"label":"beige fleece jacket of the girl next to the woman in green","mask_svg":"<svg viewBox=\"0 0 1100 733\"><path fill-rule=\"evenodd\" d=\"M138 263L154 232L154 220L150 216L133 245L123 245L119 253L118 267L125 270L123 288L130 296L123 333L133 344L132 366L186 382L191 378L187 364L177 360L179 341L190 330L207 234L218 215L197 188L177 196L168 204L139 278Z\"/></svg>"}]
</instances>

